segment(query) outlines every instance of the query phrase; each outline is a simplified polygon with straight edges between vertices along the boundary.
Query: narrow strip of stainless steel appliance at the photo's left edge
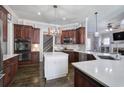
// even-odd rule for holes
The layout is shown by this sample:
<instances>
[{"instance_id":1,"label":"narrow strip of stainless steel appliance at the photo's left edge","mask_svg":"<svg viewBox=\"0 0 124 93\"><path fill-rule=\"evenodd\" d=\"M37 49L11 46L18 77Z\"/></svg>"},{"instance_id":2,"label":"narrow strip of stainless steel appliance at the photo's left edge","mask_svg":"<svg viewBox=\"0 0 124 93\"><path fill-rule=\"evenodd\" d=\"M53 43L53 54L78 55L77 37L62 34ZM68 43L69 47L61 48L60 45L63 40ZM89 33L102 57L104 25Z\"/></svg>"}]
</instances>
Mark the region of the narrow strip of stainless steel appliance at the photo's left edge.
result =
<instances>
[{"instance_id":1,"label":"narrow strip of stainless steel appliance at the photo's left edge","mask_svg":"<svg viewBox=\"0 0 124 93\"><path fill-rule=\"evenodd\" d=\"M3 43L3 24L2 21L0 20L0 87L3 86L3 48L2 48L2 43Z\"/></svg>"}]
</instances>

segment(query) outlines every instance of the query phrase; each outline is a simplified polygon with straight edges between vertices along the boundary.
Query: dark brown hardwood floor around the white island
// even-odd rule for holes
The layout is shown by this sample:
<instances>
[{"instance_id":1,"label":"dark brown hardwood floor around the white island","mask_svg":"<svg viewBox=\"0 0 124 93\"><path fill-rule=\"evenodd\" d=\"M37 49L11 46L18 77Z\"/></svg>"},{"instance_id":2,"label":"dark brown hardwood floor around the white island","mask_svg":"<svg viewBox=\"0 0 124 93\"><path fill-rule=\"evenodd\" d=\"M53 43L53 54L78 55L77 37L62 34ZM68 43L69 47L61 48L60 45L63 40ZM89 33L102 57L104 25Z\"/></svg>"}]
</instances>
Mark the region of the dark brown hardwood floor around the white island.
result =
<instances>
[{"instance_id":1,"label":"dark brown hardwood floor around the white island","mask_svg":"<svg viewBox=\"0 0 124 93\"><path fill-rule=\"evenodd\" d=\"M73 87L73 77L74 71L70 65L66 77L46 81L43 77L43 63L40 62L19 68L10 87Z\"/></svg>"}]
</instances>

